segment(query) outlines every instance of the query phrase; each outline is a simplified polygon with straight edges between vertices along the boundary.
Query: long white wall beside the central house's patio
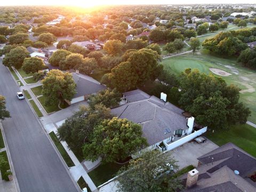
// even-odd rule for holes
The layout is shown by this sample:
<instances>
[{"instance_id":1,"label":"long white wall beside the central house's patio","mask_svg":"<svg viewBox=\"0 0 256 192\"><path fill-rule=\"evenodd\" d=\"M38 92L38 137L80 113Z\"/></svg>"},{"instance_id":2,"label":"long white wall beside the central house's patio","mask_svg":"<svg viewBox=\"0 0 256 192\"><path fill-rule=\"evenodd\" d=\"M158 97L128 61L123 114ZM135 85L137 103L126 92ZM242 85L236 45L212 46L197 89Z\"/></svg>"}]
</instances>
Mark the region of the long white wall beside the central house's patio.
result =
<instances>
[{"instance_id":1,"label":"long white wall beside the central house's patio","mask_svg":"<svg viewBox=\"0 0 256 192\"><path fill-rule=\"evenodd\" d=\"M190 140L193 140L195 139L196 137L198 137L199 135L205 133L207 131L207 126L202 128L201 130L198 130L198 131L195 131L194 133L191 133L189 135L187 135L186 137L183 137L177 141L174 141L170 144L167 144L165 141L164 141L164 145L166 146L166 151L169 151L169 150L172 150L176 147L179 147L183 144L185 144L186 142L190 141Z\"/></svg>"}]
</instances>

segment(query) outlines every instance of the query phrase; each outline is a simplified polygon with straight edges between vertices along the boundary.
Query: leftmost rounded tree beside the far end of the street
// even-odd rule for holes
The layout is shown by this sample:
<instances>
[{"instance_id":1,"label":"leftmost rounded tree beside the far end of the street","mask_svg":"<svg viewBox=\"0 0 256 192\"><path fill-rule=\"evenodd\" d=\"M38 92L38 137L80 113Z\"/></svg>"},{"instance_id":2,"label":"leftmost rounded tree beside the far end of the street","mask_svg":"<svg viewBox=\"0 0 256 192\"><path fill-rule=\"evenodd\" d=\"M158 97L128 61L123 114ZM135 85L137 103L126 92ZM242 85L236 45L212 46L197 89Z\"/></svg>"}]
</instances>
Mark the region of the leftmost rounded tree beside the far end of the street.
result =
<instances>
[{"instance_id":1,"label":"leftmost rounded tree beside the far end of the street","mask_svg":"<svg viewBox=\"0 0 256 192\"><path fill-rule=\"evenodd\" d=\"M4 57L3 64L7 67L13 66L20 69L25 58L30 57L29 52L23 46L17 46L7 53Z\"/></svg>"}]
</instances>

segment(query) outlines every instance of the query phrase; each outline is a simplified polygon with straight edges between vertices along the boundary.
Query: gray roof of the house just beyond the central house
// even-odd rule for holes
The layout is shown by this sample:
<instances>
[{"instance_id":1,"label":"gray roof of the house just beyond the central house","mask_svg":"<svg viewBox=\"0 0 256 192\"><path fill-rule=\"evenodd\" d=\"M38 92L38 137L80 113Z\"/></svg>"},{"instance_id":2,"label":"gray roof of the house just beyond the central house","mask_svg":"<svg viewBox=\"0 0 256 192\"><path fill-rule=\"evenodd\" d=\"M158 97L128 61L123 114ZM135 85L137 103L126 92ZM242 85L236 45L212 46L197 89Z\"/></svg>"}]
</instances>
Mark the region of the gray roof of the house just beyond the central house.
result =
<instances>
[{"instance_id":1,"label":"gray roof of the house just beyond the central house","mask_svg":"<svg viewBox=\"0 0 256 192\"><path fill-rule=\"evenodd\" d=\"M72 76L76 83L77 91L77 93L74 95L74 98L81 97L87 94L97 93L100 90L106 89L105 85L101 85L99 82L89 76L80 74L77 75L75 73L72 73Z\"/></svg>"}]
</instances>

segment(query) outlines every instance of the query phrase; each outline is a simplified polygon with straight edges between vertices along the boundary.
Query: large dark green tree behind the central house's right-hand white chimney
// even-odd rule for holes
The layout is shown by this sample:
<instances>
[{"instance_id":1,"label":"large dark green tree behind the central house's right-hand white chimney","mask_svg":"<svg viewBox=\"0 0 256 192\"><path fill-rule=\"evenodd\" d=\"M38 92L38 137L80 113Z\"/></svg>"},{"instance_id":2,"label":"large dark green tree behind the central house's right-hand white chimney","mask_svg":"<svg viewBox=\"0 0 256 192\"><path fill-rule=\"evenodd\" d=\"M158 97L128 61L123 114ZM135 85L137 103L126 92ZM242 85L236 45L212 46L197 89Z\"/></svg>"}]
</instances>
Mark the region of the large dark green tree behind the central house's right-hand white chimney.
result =
<instances>
[{"instance_id":1,"label":"large dark green tree behind the central house's right-hand white chimney","mask_svg":"<svg viewBox=\"0 0 256 192\"><path fill-rule=\"evenodd\" d=\"M181 75L180 88L180 105L201 125L226 129L230 124L246 123L250 115L249 108L239 103L240 89L220 77L187 69Z\"/></svg>"}]
</instances>

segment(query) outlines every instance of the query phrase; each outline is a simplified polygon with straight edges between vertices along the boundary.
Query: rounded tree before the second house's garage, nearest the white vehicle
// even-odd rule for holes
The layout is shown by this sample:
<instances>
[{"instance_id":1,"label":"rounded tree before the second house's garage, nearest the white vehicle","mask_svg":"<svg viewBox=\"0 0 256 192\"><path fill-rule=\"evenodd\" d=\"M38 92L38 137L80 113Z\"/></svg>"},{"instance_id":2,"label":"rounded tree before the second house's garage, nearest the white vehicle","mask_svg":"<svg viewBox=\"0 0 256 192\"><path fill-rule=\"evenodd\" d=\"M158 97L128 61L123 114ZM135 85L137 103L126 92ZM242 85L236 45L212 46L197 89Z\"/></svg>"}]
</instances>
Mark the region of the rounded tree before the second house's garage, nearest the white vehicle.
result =
<instances>
[{"instance_id":1,"label":"rounded tree before the second house's garage, nearest the white vehicle","mask_svg":"<svg viewBox=\"0 0 256 192\"><path fill-rule=\"evenodd\" d=\"M50 70L42 84L46 105L55 105L61 99L71 101L76 93L76 84L71 73L63 73L58 69Z\"/></svg>"}]
</instances>

